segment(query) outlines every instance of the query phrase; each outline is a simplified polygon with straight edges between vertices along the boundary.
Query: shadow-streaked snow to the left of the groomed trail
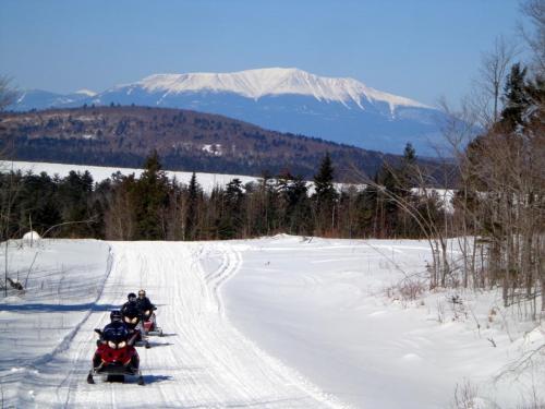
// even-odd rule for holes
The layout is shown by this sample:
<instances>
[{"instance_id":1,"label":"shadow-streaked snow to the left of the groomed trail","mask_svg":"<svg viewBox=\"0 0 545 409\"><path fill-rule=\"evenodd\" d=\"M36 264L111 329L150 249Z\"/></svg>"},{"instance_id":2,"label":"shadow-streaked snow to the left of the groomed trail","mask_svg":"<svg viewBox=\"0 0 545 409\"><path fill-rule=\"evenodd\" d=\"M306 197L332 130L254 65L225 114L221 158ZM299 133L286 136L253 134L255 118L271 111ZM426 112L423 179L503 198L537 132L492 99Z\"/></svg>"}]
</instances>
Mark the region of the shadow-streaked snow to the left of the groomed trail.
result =
<instances>
[{"instance_id":1,"label":"shadow-streaked snow to the left of the groomed trail","mask_svg":"<svg viewBox=\"0 0 545 409\"><path fill-rule=\"evenodd\" d=\"M4 251L2 245L2 261ZM33 395L40 385L70 370L69 362L63 368L47 364L69 347L100 294L109 270L109 245L95 240L41 240L39 246L29 248L10 241L8 252L9 274L25 290L0 298L2 406L35 407Z\"/></svg>"}]
</instances>

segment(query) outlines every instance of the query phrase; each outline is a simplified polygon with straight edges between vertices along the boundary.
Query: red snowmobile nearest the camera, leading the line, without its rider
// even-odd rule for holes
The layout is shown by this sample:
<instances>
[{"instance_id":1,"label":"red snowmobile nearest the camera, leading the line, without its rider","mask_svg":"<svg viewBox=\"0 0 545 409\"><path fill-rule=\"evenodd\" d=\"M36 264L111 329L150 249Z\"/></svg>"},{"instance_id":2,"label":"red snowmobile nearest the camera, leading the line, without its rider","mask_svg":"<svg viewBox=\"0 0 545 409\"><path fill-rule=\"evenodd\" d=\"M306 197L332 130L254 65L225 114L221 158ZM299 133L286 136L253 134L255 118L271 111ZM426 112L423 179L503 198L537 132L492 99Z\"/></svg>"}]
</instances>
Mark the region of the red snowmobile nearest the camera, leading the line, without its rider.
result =
<instances>
[{"instance_id":1,"label":"red snowmobile nearest the camera, leading the line, without its rider","mask_svg":"<svg viewBox=\"0 0 545 409\"><path fill-rule=\"evenodd\" d=\"M87 383L95 383L95 375L101 375L106 381L124 382L126 377L136 377L138 385L144 385L144 377L140 371L140 357L134 348L136 333L130 338L123 335L102 333L100 342L93 357L93 366L87 375Z\"/></svg>"}]
</instances>

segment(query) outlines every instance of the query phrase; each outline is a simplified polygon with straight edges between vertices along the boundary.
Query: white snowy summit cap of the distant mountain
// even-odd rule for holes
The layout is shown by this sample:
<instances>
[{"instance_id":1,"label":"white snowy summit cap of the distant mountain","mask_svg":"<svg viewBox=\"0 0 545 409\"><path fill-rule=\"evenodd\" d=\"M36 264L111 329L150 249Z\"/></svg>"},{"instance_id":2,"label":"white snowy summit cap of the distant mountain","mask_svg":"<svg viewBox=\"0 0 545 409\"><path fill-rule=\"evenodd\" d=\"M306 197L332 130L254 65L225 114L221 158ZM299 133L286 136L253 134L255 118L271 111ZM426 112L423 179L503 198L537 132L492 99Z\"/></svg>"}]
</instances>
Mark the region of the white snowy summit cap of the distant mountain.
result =
<instances>
[{"instance_id":1,"label":"white snowy summit cap of the distant mountain","mask_svg":"<svg viewBox=\"0 0 545 409\"><path fill-rule=\"evenodd\" d=\"M295 68L267 68L231 73L154 74L134 84L119 87L125 86L168 94L201 91L234 93L254 99L267 95L306 95L325 101L352 101L361 108L364 100L387 103L391 109L396 106L427 108L412 99L374 89L353 79L318 76Z\"/></svg>"}]
</instances>

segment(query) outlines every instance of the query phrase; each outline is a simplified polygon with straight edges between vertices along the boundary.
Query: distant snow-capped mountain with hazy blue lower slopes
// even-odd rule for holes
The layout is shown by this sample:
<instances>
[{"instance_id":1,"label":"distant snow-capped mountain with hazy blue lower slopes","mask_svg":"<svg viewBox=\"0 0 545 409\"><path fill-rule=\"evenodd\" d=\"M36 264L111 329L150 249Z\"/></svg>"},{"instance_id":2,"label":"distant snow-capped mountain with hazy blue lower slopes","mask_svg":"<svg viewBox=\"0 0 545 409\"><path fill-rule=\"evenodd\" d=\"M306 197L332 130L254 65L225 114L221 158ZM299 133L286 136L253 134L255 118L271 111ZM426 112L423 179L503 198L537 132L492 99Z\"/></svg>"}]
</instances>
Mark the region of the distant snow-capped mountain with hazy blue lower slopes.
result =
<instances>
[{"instance_id":1,"label":"distant snow-capped mountain with hazy blue lower slopes","mask_svg":"<svg viewBox=\"0 0 545 409\"><path fill-rule=\"evenodd\" d=\"M20 98L15 110L87 105L140 105L219 113L259 127L399 154L408 142L434 156L445 115L353 79L298 69L155 74L76 100Z\"/></svg>"}]
</instances>

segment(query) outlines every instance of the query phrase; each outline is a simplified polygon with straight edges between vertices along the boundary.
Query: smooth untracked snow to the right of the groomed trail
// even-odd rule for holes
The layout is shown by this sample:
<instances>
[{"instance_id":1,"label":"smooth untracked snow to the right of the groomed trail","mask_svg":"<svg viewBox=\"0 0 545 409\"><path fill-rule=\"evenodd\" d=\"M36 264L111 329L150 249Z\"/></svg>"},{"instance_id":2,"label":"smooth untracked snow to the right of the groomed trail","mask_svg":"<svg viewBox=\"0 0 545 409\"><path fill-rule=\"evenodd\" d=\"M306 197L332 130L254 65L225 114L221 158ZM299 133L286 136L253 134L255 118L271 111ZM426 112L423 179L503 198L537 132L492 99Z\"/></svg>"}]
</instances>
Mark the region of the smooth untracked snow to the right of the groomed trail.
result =
<instances>
[{"instance_id":1,"label":"smooth untracked snow to the right of the groomed trail","mask_svg":"<svg viewBox=\"0 0 545 409\"><path fill-rule=\"evenodd\" d=\"M347 402L448 408L468 382L480 408L522 405L532 386L543 394L544 366L524 376L509 371L545 345L543 332L519 316L524 306L498 306L497 291L427 292L427 243L281 236L249 243L226 285L228 316L267 352ZM407 277L423 282L415 300L399 291Z\"/></svg>"}]
</instances>

